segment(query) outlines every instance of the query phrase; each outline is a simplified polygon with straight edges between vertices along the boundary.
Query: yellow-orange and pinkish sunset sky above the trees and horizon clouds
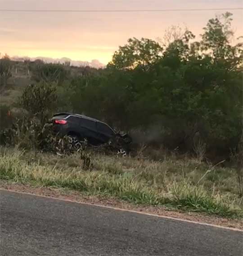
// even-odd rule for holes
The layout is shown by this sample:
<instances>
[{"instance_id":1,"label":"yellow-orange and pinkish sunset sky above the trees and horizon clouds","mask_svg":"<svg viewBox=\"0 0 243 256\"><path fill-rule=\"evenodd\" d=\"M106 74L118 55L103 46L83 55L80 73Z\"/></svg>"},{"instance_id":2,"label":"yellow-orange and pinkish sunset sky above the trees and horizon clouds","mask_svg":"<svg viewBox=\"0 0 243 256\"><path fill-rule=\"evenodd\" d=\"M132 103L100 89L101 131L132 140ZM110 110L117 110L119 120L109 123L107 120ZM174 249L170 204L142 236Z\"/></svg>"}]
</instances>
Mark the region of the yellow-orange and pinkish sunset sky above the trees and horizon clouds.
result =
<instances>
[{"instance_id":1,"label":"yellow-orange and pinkish sunset sky above the trees and horizon clouds","mask_svg":"<svg viewBox=\"0 0 243 256\"><path fill-rule=\"evenodd\" d=\"M238 8L242 0L0 0L0 9L199 9ZM158 13L36 13L0 11L0 53L10 56L98 59L107 64L129 37L162 37L171 25L195 35L209 18L225 11ZM243 11L232 10L236 37L243 35Z\"/></svg>"}]
</instances>

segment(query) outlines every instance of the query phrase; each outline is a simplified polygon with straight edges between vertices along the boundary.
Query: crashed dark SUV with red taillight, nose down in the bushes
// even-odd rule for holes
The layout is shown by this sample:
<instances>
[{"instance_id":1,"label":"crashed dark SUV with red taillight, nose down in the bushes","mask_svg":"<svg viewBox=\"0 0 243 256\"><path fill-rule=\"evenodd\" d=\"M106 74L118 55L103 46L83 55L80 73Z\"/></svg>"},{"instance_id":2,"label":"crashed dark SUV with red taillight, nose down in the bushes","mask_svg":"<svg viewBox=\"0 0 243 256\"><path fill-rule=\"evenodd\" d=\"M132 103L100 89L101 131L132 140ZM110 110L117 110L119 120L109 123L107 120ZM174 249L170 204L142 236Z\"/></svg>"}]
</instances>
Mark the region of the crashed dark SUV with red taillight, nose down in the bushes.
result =
<instances>
[{"instance_id":1,"label":"crashed dark SUV with red taillight, nose down in the bushes","mask_svg":"<svg viewBox=\"0 0 243 256\"><path fill-rule=\"evenodd\" d=\"M50 122L55 134L67 135L77 147L84 141L94 146L116 142L128 152L132 142L129 135L116 133L108 124L81 114L57 113Z\"/></svg>"}]
</instances>

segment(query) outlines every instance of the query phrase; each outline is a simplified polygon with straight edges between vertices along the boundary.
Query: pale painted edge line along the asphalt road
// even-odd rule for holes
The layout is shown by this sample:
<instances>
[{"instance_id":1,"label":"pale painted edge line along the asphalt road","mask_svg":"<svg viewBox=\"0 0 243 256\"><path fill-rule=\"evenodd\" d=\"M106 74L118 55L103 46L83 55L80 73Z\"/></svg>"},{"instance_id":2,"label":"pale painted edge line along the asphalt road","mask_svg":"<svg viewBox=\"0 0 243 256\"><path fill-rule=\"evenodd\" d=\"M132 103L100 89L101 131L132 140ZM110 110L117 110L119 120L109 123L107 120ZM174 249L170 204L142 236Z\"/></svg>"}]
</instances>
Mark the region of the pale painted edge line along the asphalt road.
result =
<instances>
[{"instance_id":1,"label":"pale painted edge line along the asphalt road","mask_svg":"<svg viewBox=\"0 0 243 256\"><path fill-rule=\"evenodd\" d=\"M219 228L219 229L228 229L228 230L243 232L243 229L229 228L229 227L224 227L224 226L215 225L215 224L209 224L209 223L205 223L205 222L198 222L198 221L193 221L193 220L188 220L188 219L180 219L180 218L164 216L164 215L157 215L157 214L153 214L153 213L141 212L141 211L136 211L136 210L128 210L128 209L122 209L122 208L112 207L112 206L103 206L103 205L91 204L91 203L87 203L87 202L72 201L72 200L57 198L57 197L47 197L47 196L37 195L37 194L29 193L29 192L20 192L20 191L3 189L3 188L0 188L0 191L14 192L14 193L18 193L18 194L25 194L25 195L29 195L29 196L35 196L35 197L43 197L43 198L54 199L54 200L59 200L59 201L67 201L67 202L78 203L78 204L87 205L87 206L95 206L95 207L100 207L100 208L107 208L107 209L112 209L112 210L127 211L127 212L137 213L137 214L141 214L141 215L148 215L148 216L159 217L159 218L164 218L164 219L173 219L173 220L178 220L178 221L182 221L182 222L205 225L205 226L210 226L210 227Z\"/></svg>"}]
</instances>

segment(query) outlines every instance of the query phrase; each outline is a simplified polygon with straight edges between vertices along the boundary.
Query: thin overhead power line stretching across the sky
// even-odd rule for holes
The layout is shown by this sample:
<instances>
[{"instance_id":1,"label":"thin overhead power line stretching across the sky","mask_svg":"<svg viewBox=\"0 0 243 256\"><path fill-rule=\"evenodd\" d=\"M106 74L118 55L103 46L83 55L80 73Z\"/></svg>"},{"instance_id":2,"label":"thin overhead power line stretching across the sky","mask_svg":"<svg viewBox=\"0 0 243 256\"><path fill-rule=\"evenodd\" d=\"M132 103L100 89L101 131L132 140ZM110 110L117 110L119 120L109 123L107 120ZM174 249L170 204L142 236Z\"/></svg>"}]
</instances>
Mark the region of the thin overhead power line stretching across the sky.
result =
<instances>
[{"instance_id":1,"label":"thin overhead power line stretching across the sky","mask_svg":"<svg viewBox=\"0 0 243 256\"><path fill-rule=\"evenodd\" d=\"M62 10L62 9L0 9L0 12L38 12L38 13L148 13L148 12L184 12L184 11L230 11L243 10L243 7L238 8L206 8L206 9L113 9L113 10Z\"/></svg>"}]
</instances>

